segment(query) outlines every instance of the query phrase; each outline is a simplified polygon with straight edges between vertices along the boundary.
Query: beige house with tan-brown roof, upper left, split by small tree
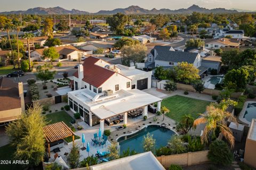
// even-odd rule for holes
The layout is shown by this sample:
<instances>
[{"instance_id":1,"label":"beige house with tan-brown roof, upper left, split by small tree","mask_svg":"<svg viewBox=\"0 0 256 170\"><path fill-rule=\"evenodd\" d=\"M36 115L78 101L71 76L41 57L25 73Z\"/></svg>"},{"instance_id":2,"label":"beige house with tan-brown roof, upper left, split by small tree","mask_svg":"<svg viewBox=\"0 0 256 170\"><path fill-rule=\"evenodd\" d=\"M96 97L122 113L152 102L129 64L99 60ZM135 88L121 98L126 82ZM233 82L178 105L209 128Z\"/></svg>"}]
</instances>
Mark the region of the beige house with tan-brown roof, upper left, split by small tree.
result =
<instances>
[{"instance_id":1,"label":"beige house with tan-brown roof, upper left, split by small tree","mask_svg":"<svg viewBox=\"0 0 256 170\"><path fill-rule=\"evenodd\" d=\"M58 61L65 61L65 60L78 60L78 57L83 57L84 53L82 50L79 50L71 45L69 46L60 46L60 47L54 47L55 50L60 54ZM33 52L30 53L31 60L37 60L37 61L48 61L47 59L43 60L43 50L42 49L36 49Z\"/></svg>"}]
</instances>

